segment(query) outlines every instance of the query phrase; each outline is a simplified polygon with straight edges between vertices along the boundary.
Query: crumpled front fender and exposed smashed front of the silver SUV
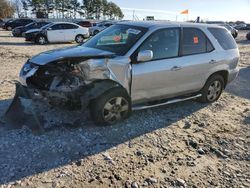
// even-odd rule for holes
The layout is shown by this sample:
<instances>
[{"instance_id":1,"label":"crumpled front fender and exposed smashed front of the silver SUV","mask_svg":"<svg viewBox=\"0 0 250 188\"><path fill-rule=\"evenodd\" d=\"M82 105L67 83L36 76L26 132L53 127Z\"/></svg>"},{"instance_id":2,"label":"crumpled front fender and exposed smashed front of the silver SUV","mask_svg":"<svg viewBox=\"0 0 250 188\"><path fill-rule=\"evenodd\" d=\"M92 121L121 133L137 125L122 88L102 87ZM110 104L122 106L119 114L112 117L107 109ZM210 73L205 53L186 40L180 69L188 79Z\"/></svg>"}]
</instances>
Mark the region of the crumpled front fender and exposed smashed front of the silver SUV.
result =
<instances>
[{"instance_id":1,"label":"crumpled front fender and exposed smashed front of the silver SUV","mask_svg":"<svg viewBox=\"0 0 250 188\"><path fill-rule=\"evenodd\" d=\"M17 84L17 94L24 98L43 98L53 105L81 105L82 108L114 87L121 87L130 95L129 62L125 57L92 58L39 66L34 75L27 78L27 87Z\"/></svg>"}]
</instances>

